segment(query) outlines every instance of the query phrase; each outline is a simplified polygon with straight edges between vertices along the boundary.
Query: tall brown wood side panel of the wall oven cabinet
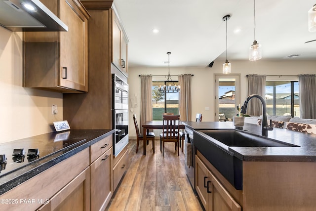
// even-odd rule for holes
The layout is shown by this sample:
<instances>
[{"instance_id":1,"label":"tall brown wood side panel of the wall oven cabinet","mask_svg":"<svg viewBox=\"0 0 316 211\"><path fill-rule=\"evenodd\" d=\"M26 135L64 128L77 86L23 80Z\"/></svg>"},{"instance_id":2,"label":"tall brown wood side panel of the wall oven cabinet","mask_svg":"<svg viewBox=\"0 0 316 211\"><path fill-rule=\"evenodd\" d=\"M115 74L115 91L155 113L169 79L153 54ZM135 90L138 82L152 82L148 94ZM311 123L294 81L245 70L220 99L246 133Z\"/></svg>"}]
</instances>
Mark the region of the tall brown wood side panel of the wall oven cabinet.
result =
<instances>
[{"instance_id":1,"label":"tall brown wood side panel of the wall oven cabinet","mask_svg":"<svg viewBox=\"0 0 316 211\"><path fill-rule=\"evenodd\" d=\"M112 74L127 82L126 75L112 62L112 26L117 15L112 9L112 1L81 0L81 3L90 14L89 92L63 94L63 117L74 129L113 128ZM125 67L127 69L127 62Z\"/></svg>"}]
</instances>

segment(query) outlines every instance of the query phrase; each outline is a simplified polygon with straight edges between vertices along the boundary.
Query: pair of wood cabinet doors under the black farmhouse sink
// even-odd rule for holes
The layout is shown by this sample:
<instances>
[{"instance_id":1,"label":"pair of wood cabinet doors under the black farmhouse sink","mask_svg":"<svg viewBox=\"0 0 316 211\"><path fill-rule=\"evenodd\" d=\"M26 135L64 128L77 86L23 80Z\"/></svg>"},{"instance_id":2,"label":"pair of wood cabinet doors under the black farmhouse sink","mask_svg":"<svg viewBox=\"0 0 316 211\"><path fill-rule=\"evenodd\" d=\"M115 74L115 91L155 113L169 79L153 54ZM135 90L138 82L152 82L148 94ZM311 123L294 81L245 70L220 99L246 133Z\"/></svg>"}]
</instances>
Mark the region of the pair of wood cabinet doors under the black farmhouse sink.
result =
<instances>
[{"instance_id":1,"label":"pair of wood cabinet doors under the black farmhouse sink","mask_svg":"<svg viewBox=\"0 0 316 211\"><path fill-rule=\"evenodd\" d=\"M241 207L196 155L196 191L205 211L241 211Z\"/></svg>"}]
</instances>

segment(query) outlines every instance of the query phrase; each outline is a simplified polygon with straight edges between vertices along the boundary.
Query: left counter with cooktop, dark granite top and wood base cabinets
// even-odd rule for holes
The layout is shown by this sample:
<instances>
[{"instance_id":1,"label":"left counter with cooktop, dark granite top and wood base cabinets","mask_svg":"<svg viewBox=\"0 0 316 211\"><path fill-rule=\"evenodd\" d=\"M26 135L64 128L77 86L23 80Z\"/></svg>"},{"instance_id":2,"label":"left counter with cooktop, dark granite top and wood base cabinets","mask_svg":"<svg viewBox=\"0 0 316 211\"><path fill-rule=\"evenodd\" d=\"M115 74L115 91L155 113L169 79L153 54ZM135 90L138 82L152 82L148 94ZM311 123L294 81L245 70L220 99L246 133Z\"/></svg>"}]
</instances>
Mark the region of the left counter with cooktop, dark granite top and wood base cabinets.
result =
<instances>
[{"instance_id":1,"label":"left counter with cooktop, dark granite top and wood base cabinets","mask_svg":"<svg viewBox=\"0 0 316 211\"><path fill-rule=\"evenodd\" d=\"M113 194L113 133L72 129L1 144L0 210L105 209Z\"/></svg>"}]
</instances>

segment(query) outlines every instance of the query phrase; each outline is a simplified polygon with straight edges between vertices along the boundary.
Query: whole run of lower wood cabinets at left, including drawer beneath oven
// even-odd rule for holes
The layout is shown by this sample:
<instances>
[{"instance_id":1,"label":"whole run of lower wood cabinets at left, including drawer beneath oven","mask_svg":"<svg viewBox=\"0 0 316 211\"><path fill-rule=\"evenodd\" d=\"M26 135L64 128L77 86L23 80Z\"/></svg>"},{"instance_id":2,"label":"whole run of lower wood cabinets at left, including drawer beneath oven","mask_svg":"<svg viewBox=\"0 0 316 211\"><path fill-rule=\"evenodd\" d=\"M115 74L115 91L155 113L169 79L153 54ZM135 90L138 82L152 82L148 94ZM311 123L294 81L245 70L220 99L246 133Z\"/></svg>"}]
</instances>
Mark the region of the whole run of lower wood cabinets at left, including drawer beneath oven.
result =
<instances>
[{"instance_id":1,"label":"whole run of lower wood cabinets at left, including drawer beneath oven","mask_svg":"<svg viewBox=\"0 0 316 211\"><path fill-rule=\"evenodd\" d=\"M18 201L0 210L105 210L128 165L127 147L113 158L112 145L111 134L7 191L0 199Z\"/></svg>"}]
</instances>

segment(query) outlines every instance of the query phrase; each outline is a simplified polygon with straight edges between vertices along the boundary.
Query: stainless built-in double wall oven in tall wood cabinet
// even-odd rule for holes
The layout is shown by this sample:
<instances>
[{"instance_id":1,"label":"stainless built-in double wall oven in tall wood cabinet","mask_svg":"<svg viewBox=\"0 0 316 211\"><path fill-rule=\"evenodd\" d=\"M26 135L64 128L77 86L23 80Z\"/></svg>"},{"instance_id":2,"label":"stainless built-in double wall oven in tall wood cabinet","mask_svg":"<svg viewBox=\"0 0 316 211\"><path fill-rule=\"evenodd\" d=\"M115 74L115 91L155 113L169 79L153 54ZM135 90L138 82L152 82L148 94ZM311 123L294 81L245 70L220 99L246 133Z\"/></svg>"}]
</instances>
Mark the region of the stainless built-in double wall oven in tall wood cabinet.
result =
<instances>
[{"instance_id":1,"label":"stainless built-in double wall oven in tall wood cabinet","mask_svg":"<svg viewBox=\"0 0 316 211\"><path fill-rule=\"evenodd\" d=\"M113 152L117 156L128 143L128 84L113 75ZM127 81L127 80L125 80Z\"/></svg>"}]
</instances>

